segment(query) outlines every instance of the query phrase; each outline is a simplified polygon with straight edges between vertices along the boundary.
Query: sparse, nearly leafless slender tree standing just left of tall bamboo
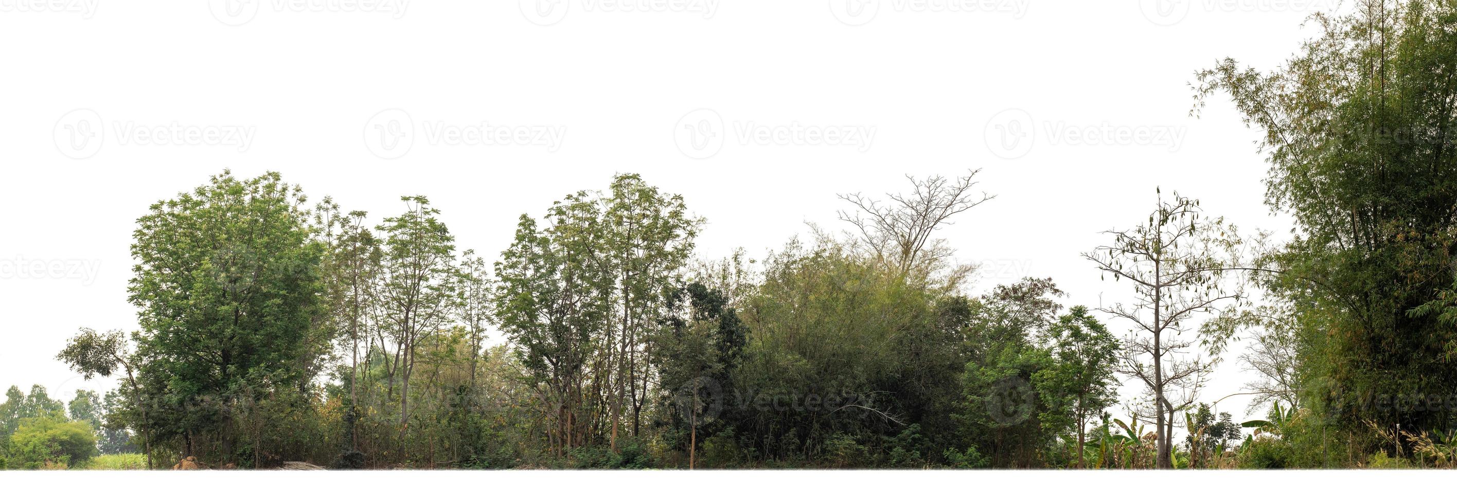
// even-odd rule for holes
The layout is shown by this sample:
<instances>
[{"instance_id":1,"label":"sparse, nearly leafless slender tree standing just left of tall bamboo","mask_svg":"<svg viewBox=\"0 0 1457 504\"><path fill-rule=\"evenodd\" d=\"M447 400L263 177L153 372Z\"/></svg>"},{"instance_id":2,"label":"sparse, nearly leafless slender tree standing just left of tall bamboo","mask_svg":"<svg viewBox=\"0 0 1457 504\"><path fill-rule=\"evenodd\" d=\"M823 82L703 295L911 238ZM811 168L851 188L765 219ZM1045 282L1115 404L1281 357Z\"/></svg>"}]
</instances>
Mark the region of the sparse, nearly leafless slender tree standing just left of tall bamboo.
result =
<instances>
[{"instance_id":1,"label":"sparse, nearly leafless slender tree standing just left of tall bamboo","mask_svg":"<svg viewBox=\"0 0 1457 504\"><path fill-rule=\"evenodd\" d=\"M1224 281L1238 269L1234 251L1240 239L1224 218L1202 217L1196 200L1174 194L1166 202L1161 192L1147 224L1107 235L1113 236L1113 245L1083 256L1104 274L1113 274L1115 281L1126 278L1134 284L1131 304L1100 310L1135 328L1125 342L1120 371L1147 386L1154 401L1158 468L1171 469L1174 412L1193 405L1222 348L1209 335L1198 339L1182 335L1196 315L1222 313L1244 299L1241 286L1231 288Z\"/></svg>"}]
</instances>

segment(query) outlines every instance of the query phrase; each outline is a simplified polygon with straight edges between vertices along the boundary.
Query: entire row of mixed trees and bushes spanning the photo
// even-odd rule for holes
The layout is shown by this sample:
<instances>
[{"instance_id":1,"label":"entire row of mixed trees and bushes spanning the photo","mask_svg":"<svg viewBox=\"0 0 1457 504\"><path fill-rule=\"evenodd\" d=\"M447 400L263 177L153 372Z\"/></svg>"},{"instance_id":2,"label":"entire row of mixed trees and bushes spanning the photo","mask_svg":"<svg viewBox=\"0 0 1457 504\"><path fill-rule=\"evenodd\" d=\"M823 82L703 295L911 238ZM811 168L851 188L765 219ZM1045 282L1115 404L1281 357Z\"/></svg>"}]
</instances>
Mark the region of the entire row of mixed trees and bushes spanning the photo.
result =
<instances>
[{"instance_id":1,"label":"entire row of mixed trees and bushes spanning the photo","mask_svg":"<svg viewBox=\"0 0 1457 504\"><path fill-rule=\"evenodd\" d=\"M115 377L0 405L9 468L1354 468L1457 459L1457 7L1367 0L1273 71L1218 61L1291 237L1154 188L1085 251L1106 306L1052 278L967 294L963 176L842 194L763 258L621 173L522 214L490 261L427 197L374 218L229 172L137 220L140 331L57 355ZM1123 335L1109 329L1128 329ZM1249 411L1205 393L1227 348ZM1119 401L1116 387L1142 393ZM1265 418L1236 421L1268 412Z\"/></svg>"}]
</instances>

